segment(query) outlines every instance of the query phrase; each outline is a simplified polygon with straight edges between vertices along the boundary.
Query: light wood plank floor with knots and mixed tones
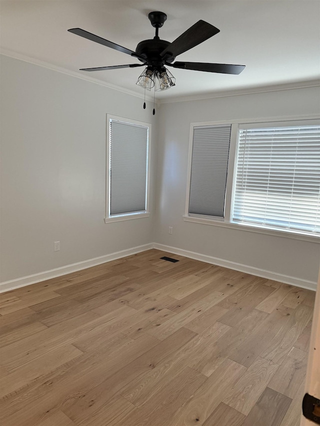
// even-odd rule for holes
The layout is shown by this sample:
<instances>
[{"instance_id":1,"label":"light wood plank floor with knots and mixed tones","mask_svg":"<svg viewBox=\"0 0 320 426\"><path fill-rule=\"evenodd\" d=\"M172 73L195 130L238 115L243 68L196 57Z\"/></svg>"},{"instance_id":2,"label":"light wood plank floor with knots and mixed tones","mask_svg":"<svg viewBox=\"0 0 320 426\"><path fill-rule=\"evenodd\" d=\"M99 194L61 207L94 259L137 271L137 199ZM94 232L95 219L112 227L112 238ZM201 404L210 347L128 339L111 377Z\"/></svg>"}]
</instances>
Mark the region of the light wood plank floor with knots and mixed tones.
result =
<instances>
[{"instance_id":1,"label":"light wood plank floor with knots and mixed tones","mask_svg":"<svg viewBox=\"0 0 320 426\"><path fill-rule=\"evenodd\" d=\"M1 425L298 426L313 302L158 250L7 292Z\"/></svg>"}]
</instances>

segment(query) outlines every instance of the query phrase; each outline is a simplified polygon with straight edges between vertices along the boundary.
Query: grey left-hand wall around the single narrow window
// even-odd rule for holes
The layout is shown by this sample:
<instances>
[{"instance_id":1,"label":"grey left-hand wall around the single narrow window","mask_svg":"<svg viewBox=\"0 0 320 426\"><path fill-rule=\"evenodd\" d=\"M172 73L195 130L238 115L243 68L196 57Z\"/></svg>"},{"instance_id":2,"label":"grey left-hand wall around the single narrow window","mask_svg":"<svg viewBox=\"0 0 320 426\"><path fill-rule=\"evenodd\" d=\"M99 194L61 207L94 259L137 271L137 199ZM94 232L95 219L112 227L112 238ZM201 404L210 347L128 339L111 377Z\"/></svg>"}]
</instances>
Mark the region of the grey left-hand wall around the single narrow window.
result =
<instances>
[{"instance_id":1,"label":"grey left-hand wall around the single narrow window","mask_svg":"<svg viewBox=\"0 0 320 426\"><path fill-rule=\"evenodd\" d=\"M105 123L152 122L153 105L6 56L0 65L1 281L150 243L152 215L103 221ZM152 140L151 170L155 154Z\"/></svg>"}]
</instances>

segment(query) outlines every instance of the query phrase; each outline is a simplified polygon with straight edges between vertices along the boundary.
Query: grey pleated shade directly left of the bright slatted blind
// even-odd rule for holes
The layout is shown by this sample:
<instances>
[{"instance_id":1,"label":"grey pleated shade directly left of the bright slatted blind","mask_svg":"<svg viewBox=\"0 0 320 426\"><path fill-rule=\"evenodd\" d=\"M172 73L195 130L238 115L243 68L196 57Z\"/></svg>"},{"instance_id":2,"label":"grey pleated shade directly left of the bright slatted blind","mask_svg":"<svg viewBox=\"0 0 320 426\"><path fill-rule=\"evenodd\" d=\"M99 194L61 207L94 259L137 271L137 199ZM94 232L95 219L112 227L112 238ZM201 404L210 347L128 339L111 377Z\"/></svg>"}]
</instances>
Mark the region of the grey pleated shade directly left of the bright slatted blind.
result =
<instances>
[{"instance_id":1,"label":"grey pleated shade directly left of the bright slatted blind","mask_svg":"<svg viewBox=\"0 0 320 426\"><path fill-rule=\"evenodd\" d=\"M224 216L231 125L193 129L189 214Z\"/></svg>"}]
</instances>

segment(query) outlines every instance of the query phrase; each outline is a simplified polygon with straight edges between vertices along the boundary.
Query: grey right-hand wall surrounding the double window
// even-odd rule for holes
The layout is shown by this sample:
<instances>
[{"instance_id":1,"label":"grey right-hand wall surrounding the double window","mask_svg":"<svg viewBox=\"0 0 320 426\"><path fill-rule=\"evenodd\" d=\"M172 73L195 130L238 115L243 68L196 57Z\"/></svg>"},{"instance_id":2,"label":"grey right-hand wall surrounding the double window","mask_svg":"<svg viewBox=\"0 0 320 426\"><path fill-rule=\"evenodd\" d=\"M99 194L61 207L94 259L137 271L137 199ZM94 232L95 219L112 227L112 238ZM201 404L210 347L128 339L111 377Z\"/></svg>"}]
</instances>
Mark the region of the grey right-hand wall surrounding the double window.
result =
<instances>
[{"instance_id":1,"label":"grey right-hand wall surrounding the double window","mask_svg":"<svg viewBox=\"0 0 320 426\"><path fill-rule=\"evenodd\" d=\"M184 222L191 122L318 113L319 90L303 88L165 103L158 116L157 209L154 241L301 280L317 280L320 245ZM168 234L168 226L173 234Z\"/></svg>"}]
</instances>

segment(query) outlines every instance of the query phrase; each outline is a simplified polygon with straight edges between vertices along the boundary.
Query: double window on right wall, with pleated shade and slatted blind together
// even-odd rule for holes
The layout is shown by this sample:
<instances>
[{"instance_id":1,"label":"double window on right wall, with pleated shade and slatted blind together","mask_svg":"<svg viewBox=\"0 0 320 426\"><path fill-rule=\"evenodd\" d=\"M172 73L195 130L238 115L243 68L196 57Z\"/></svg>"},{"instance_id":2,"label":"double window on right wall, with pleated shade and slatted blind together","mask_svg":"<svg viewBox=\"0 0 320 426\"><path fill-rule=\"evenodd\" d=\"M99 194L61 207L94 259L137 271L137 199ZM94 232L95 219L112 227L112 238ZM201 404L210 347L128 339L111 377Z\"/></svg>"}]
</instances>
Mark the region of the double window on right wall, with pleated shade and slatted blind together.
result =
<instances>
[{"instance_id":1,"label":"double window on right wall, with pleated shade and slatted blind together","mask_svg":"<svg viewBox=\"0 0 320 426\"><path fill-rule=\"evenodd\" d=\"M191 123L183 219L320 241L318 121Z\"/></svg>"}]
</instances>

